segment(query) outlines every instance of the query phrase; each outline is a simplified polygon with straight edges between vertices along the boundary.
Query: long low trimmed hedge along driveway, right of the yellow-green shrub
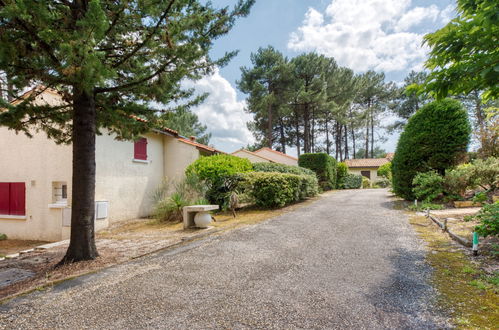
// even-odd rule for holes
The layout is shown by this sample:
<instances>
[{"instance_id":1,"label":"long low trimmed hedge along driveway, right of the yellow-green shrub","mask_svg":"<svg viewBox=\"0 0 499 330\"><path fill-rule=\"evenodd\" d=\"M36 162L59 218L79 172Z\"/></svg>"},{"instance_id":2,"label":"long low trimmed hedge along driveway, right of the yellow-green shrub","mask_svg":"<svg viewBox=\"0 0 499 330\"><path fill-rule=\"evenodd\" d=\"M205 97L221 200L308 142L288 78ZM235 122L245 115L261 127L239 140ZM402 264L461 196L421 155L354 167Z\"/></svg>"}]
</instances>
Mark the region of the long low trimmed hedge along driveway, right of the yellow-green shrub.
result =
<instances>
[{"instance_id":1,"label":"long low trimmed hedge along driveway, right of the yellow-green shrub","mask_svg":"<svg viewBox=\"0 0 499 330\"><path fill-rule=\"evenodd\" d=\"M317 179L311 175L279 172L250 172L245 177L245 193L256 205L283 207L317 194Z\"/></svg>"}]
</instances>

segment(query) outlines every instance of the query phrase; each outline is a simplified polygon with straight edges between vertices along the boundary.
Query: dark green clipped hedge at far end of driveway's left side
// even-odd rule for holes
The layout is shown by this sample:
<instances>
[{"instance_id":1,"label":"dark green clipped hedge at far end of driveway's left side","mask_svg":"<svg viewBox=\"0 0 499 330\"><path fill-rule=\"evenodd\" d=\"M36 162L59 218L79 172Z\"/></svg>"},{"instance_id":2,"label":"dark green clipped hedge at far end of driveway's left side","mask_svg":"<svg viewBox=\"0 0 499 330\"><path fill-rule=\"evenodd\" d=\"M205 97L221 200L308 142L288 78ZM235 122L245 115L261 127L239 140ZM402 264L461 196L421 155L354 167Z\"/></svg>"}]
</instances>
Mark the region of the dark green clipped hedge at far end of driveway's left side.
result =
<instances>
[{"instance_id":1,"label":"dark green clipped hedge at far end of driveway's left side","mask_svg":"<svg viewBox=\"0 0 499 330\"><path fill-rule=\"evenodd\" d=\"M336 160L328 154L300 155L298 165L314 171L322 189L330 190L336 187Z\"/></svg>"}]
</instances>

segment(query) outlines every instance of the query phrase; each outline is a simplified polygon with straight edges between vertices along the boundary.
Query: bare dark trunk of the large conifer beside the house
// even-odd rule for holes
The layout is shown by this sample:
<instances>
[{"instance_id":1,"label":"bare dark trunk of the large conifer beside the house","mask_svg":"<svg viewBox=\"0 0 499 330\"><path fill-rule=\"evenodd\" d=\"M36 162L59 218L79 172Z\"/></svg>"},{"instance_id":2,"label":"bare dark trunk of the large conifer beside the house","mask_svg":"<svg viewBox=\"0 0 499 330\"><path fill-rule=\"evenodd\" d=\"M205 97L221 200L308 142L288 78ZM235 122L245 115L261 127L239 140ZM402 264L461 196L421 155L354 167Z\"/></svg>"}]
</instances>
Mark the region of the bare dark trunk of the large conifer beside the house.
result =
<instances>
[{"instance_id":1,"label":"bare dark trunk of the large conifer beside the house","mask_svg":"<svg viewBox=\"0 0 499 330\"><path fill-rule=\"evenodd\" d=\"M95 133L94 96L73 90L73 183L71 236L60 264L95 259Z\"/></svg>"}]
</instances>

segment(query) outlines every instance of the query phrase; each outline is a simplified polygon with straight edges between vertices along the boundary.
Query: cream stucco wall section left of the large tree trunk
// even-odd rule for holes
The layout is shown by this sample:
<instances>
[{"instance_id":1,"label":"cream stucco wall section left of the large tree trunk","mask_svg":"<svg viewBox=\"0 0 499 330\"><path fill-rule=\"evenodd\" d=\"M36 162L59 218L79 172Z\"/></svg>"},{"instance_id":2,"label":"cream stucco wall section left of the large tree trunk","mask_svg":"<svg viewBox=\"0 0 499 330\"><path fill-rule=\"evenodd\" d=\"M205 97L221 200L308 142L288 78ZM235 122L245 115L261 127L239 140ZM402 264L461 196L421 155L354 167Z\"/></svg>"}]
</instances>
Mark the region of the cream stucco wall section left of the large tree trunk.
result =
<instances>
[{"instance_id":1,"label":"cream stucco wall section left of the large tree trunk","mask_svg":"<svg viewBox=\"0 0 499 330\"><path fill-rule=\"evenodd\" d=\"M9 238L59 240L62 210L49 208L52 182L68 185L71 200L71 146L57 145L45 133L28 138L0 127L0 182L24 182L26 218L6 219L0 215L0 233Z\"/></svg>"}]
</instances>

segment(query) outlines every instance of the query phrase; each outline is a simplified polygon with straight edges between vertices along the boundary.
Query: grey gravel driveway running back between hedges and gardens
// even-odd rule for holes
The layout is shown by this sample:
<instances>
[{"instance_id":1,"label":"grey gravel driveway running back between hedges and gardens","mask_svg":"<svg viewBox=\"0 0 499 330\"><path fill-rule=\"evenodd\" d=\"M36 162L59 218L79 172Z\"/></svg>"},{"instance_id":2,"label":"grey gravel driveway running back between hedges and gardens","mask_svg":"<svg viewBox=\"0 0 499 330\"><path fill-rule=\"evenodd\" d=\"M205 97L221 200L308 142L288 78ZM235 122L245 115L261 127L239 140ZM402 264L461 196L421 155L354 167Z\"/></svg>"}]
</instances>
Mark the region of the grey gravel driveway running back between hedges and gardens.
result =
<instances>
[{"instance_id":1,"label":"grey gravel driveway running back between hedges and gardens","mask_svg":"<svg viewBox=\"0 0 499 330\"><path fill-rule=\"evenodd\" d=\"M442 329L385 189L344 190L0 306L2 329Z\"/></svg>"}]
</instances>

